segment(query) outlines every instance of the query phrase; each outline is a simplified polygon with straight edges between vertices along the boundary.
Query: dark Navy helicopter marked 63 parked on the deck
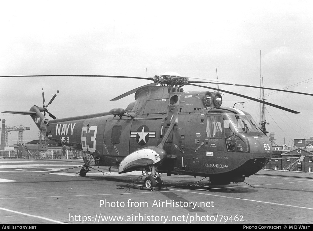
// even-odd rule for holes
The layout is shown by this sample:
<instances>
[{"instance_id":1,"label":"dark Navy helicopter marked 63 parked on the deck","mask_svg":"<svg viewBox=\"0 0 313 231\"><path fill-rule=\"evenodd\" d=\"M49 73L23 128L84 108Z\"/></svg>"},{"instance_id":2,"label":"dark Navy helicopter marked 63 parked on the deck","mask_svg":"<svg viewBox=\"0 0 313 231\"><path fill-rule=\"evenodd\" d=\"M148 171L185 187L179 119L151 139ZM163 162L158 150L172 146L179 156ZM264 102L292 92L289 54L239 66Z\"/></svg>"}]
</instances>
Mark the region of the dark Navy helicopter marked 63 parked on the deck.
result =
<instances>
[{"instance_id":1,"label":"dark Navy helicopter marked 63 parked on the deck","mask_svg":"<svg viewBox=\"0 0 313 231\"><path fill-rule=\"evenodd\" d=\"M34 105L29 111L4 113L30 115L48 139L83 151L85 165L80 170L81 176L86 175L96 158L99 165L108 166L109 169L118 167L120 174L135 170L147 173L144 180L146 188L161 188L162 179L158 173L210 177L213 184L243 182L271 159L269 138L256 125L252 116L236 108L221 107L223 100L218 91L300 113L242 94L197 85L195 83L216 82L191 81L175 72L153 78L80 76L136 78L152 80L154 83L111 99L118 100L135 93L135 102L130 103L126 109L117 108L104 113L56 119L47 109L55 94L43 107ZM219 84L313 95L232 83ZM214 92L184 92L184 85L207 88ZM44 93L43 101L45 102ZM46 113L53 119L46 118Z\"/></svg>"}]
</instances>

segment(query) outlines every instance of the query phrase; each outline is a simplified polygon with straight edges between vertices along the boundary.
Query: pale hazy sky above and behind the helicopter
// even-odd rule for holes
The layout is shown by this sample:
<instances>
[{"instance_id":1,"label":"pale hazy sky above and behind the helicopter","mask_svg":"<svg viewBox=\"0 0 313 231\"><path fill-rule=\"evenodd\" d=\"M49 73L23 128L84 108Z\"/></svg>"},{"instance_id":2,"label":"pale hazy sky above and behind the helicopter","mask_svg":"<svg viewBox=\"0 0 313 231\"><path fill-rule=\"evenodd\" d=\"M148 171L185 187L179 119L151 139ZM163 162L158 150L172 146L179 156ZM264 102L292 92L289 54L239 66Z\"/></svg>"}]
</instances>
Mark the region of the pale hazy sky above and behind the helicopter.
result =
<instances>
[{"instance_id":1,"label":"pale hazy sky above and behind the helicopter","mask_svg":"<svg viewBox=\"0 0 313 231\"><path fill-rule=\"evenodd\" d=\"M174 71L184 77L313 93L312 1L3 1L0 10L0 76L118 75L153 77ZM42 106L57 118L126 108L146 80L83 77L0 78L0 112ZM209 85L207 85L209 86ZM215 86L213 86L215 87ZM260 97L259 89L220 85ZM202 90L185 86L185 91ZM203 89L206 90L206 89ZM313 137L313 98L264 90L269 132L278 145ZM223 106L260 118L260 105L223 94ZM47 103L46 103L47 104ZM31 127L30 116L0 113L7 126ZM18 133L10 132L9 145Z\"/></svg>"}]
</instances>

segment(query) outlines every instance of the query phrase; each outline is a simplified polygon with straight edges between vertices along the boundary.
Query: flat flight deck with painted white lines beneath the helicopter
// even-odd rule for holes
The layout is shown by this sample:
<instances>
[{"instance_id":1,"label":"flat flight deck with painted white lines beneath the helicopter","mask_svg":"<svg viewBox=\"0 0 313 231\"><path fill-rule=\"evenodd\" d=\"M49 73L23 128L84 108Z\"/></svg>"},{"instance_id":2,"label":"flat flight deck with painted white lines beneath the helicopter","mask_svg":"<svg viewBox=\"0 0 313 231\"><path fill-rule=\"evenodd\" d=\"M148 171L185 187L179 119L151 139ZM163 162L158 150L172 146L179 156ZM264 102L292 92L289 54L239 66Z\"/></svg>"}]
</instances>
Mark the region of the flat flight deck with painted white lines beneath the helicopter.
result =
<instances>
[{"instance_id":1,"label":"flat flight deck with painted white lines beneath the helicopter","mask_svg":"<svg viewBox=\"0 0 313 231\"><path fill-rule=\"evenodd\" d=\"M238 185L162 174L167 188L149 191L137 186L145 177L134 185L139 172L119 175L94 166L79 177L80 165L81 160L0 160L0 223L313 223L311 173L261 170ZM69 170L55 172L62 169Z\"/></svg>"}]
</instances>

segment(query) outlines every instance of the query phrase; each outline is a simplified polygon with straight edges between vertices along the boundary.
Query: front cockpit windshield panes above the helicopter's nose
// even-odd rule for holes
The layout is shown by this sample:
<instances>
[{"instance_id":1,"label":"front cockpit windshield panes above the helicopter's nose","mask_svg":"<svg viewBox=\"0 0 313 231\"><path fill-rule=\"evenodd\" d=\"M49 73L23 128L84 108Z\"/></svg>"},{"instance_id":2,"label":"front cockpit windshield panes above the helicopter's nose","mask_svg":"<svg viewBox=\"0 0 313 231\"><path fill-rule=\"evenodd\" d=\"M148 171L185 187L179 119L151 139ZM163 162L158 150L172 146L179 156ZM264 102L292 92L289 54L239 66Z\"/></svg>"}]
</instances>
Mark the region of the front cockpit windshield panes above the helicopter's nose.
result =
<instances>
[{"instance_id":1,"label":"front cockpit windshield panes above the helicopter's nose","mask_svg":"<svg viewBox=\"0 0 313 231\"><path fill-rule=\"evenodd\" d=\"M251 115L223 115L225 137L229 137L239 132L262 132L259 129Z\"/></svg>"}]
</instances>

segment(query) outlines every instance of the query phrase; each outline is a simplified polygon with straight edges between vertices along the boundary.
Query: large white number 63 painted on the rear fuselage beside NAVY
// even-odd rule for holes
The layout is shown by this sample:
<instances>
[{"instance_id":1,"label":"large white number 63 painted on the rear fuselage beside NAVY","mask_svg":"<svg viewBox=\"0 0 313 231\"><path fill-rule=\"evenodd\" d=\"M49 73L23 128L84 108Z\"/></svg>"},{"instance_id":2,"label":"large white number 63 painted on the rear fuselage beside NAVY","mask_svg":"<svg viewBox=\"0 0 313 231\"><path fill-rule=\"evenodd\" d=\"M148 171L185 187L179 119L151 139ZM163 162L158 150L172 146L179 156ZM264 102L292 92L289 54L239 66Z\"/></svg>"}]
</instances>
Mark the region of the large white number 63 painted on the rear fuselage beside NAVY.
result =
<instances>
[{"instance_id":1,"label":"large white number 63 painted on the rear fuselage beside NAVY","mask_svg":"<svg viewBox=\"0 0 313 231\"><path fill-rule=\"evenodd\" d=\"M90 126L89 129L87 126L84 126L81 129L81 147L83 151L96 151L96 137L97 137L97 126Z\"/></svg>"}]
</instances>

